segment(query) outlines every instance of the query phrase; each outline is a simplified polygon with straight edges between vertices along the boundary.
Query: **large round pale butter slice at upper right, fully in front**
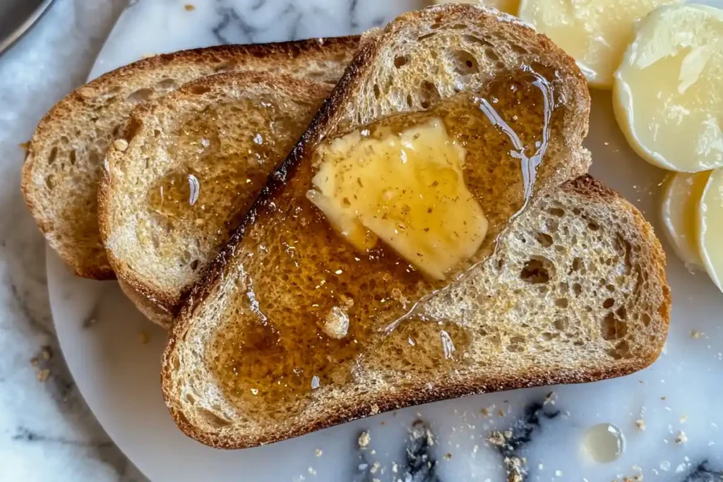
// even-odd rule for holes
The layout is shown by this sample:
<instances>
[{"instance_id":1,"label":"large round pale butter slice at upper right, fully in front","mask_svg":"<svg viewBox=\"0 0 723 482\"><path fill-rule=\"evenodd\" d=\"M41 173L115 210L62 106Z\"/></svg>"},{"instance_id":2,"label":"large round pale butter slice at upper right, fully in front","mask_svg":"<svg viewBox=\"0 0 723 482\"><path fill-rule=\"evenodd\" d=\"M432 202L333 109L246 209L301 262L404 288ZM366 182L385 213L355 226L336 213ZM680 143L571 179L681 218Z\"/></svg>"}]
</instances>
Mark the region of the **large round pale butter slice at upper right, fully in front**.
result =
<instances>
[{"instance_id":1,"label":"large round pale butter slice at upper right, fully in front","mask_svg":"<svg viewBox=\"0 0 723 482\"><path fill-rule=\"evenodd\" d=\"M723 166L723 11L651 12L615 73L613 105L649 163L690 173Z\"/></svg>"}]
</instances>

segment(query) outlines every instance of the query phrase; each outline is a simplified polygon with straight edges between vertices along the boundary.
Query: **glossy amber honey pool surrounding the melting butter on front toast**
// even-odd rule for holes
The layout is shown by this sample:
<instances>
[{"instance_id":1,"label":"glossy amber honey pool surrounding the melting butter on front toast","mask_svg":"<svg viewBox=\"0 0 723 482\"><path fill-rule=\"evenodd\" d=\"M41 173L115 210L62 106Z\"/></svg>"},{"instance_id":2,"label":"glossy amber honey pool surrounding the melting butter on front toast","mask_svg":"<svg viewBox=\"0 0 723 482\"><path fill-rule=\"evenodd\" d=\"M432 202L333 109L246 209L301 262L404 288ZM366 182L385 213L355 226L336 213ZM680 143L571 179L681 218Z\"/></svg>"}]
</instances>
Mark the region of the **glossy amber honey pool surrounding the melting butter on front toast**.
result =
<instances>
[{"instance_id":1,"label":"glossy amber honey pool surrounding the melting butter on front toast","mask_svg":"<svg viewBox=\"0 0 723 482\"><path fill-rule=\"evenodd\" d=\"M353 381L360 369L401 387L440 365L464 366L475 333L462 320L427 319L413 308L489 256L502 228L526 205L535 176L544 175L538 167L562 124L546 77L514 72L477 95L461 92L427 111L365 127L373 136L436 117L466 148L464 181L489 231L474 259L447 280L425 277L383 244L365 252L351 246L305 197L314 156L301 160L237 246L235 289L242 294L229 296L234 301L218 314L225 321L206 353L244 414L293 415L315 394Z\"/></svg>"}]
</instances>

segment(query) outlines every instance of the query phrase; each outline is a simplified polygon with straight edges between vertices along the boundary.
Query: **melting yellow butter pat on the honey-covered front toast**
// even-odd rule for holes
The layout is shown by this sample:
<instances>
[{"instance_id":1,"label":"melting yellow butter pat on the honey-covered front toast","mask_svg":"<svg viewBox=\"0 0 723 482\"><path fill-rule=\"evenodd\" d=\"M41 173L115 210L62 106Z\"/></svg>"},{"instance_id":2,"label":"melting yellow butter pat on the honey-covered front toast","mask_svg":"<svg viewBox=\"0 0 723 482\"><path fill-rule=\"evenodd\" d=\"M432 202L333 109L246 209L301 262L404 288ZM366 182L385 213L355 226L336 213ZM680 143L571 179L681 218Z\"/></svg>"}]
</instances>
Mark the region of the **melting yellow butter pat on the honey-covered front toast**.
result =
<instances>
[{"instance_id":1,"label":"melting yellow butter pat on the honey-covered front toast","mask_svg":"<svg viewBox=\"0 0 723 482\"><path fill-rule=\"evenodd\" d=\"M351 132L317 149L307 198L357 249L381 240L444 279L487 234L482 207L464 184L465 155L437 118L401 133Z\"/></svg>"}]
</instances>

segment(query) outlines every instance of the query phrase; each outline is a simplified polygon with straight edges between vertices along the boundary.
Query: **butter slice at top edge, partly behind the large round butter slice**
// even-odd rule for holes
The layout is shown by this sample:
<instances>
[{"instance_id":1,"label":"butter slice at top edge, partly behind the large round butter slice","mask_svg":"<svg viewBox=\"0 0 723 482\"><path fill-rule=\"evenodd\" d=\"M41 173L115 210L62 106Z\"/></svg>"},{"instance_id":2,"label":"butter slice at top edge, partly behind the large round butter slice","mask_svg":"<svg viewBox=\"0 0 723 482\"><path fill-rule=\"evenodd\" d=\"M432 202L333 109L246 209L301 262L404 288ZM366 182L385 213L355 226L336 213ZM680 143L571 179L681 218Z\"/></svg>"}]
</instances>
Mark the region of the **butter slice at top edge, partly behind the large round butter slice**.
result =
<instances>
[{"instance_id":1,"label":"butter slice at top edge, partly behind the large round butter slice","mask_svg":"<svg viewBox=\"0 0 723 482\"><path fill-rule=\"evenodd\" d=\"M610 88L635 22L682 0L522 0L519 16L577 61L594 87Z\"/></svg>"}]
</instances>

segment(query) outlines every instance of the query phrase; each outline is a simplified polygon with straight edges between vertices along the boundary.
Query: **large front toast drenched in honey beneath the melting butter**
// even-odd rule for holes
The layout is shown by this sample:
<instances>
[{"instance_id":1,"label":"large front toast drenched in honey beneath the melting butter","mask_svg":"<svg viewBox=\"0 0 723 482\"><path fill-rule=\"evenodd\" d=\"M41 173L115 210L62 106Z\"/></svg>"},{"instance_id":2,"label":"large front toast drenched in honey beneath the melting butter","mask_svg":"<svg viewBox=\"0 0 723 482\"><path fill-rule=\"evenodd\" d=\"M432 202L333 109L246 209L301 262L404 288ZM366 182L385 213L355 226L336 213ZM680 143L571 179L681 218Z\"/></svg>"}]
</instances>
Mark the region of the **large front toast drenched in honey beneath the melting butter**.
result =
<instances>
[{"instance_id":1,"label":"large front toast drenched in honey beneath the melting butter","mask_svg":"<svg viewBox=\"0 0 723 482\"><path fill-rule=\"evenodd\" d=\"M557 220L559 232L544 227L544 211L513 217L523 205L515 197L523 183L520 173L500 167L510 145L494 141L497 129L469 130L492 140L473 149L478 137L466 138L463 173L490 220L486 252L497 243L495 258L479 261L453 289L435 294L440 285L384 251L359 254L307 200L315 147L392 114L432 112L474 94L489 98L499 119L514 123L511 129L547 132L534 114L539 92L520 95L517 77L510 80L519 69L542 74L557 99L544 124L549 143L528 203L534 205L589 165L582 147L589 94L574 61L513 17L469 5L404 14L364 35L334 92L176 317L163 392L185 433L215 447L249 447L414 403L615 376L655 358L665 337L667 288L649 226L617 195L586 180L552 198L567 213ZM464 113L460 123L469 119ZM585 213L578 207L584 203ZM603 228L606 214L620 220L614 225L623 238ZM526 232L523 220L540 224L545 254L529 241L515 251L513 236ZM570 225L560 227L563 220ZM605 259L593 261L595 243ZM590 258L584 269L594 265L600 276L568 274L568 264L583 262L577 258ZM650 280L633 294L638 267ZM610 294L591 285L606 277L612 277ZM552 296L560 309L536 304ZM565 296L568 305L561 306ZM590 311L575 309L576 296ZM613 341L603 337L600 315L607 317L610 306L602 306L615 296L615 308L625 306L619 323L631 328ZM622 333L615 316L611 330ZM330 323L346 328L330 335Z\"/></svg>"}]
</instances>

